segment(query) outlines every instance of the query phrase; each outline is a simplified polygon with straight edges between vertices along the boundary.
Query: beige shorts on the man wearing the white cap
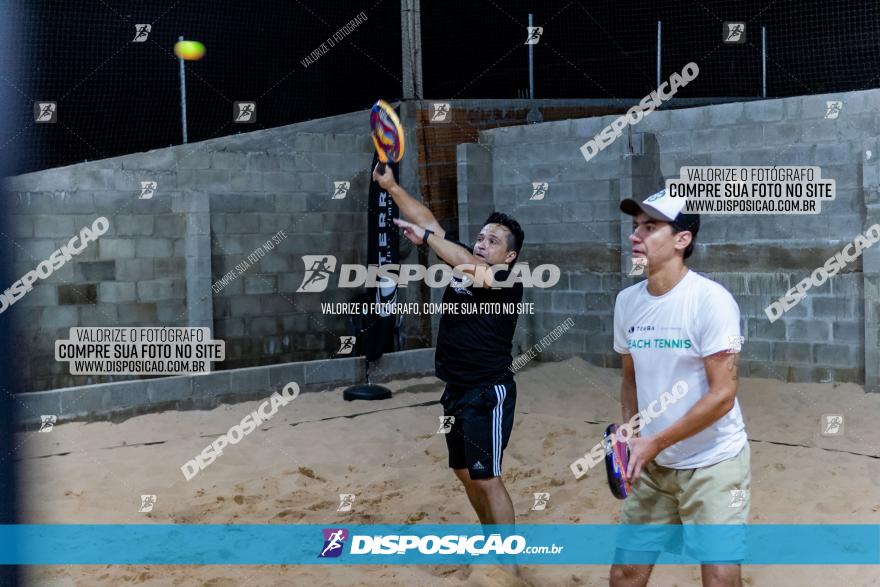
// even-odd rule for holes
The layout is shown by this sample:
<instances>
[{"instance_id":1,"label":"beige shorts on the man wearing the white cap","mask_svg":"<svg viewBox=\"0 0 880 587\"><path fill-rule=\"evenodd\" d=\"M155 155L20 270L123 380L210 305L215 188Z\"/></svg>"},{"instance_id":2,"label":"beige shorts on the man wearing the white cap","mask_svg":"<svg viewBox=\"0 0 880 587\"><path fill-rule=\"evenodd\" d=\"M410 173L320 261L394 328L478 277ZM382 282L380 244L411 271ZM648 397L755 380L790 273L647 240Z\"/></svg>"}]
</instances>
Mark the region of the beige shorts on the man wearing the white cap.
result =
<instances>
[{"instance_id":1,"label":"beige shorts on the man wearing the white cap","mask_svg":"<svg viewBox=\"0 0 880 587\"><path fill-rule=\"evenodd\" d=\"M751 506L751 450L697 469L670 469L649 463L630 487L620 523L658 524L632 528L617 546L633 551L684 552L700 561L745 558L745 528ZM680 525L679 528L670 528ZM699 528L724 525L730 528Z\"/></svg>"}]
</instances>

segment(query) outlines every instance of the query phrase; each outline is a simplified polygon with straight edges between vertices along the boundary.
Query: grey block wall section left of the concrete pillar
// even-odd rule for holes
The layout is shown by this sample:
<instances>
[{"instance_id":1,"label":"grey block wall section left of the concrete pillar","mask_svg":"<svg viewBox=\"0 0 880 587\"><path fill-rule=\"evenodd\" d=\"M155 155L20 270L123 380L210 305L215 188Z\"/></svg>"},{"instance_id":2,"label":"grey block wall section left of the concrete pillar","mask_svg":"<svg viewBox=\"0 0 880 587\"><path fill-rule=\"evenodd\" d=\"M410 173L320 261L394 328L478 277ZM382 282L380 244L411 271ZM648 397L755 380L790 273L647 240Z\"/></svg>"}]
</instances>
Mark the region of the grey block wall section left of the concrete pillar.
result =
<instances>
[{"instance_id":1,"label":"grey block wall section left of the concrete pillar","mask_svg":"<svg viewBox=\"0 0 880 587\"><path fill-rule=\"evenodd\" d=\"M69 375L67 363L55 361L55 340L68 338L70 327L185 323L186 214L177 208L176 178L165 173L170 161L157 160L146 171L118 158L11 179L7 209L15 230L6 250L16 278L95 219L109 220L106 234L5 312L17 321L28 389L100 380ZM139 181L157 176L162 195L138 199Z\"/></svg>"}]
</instances>

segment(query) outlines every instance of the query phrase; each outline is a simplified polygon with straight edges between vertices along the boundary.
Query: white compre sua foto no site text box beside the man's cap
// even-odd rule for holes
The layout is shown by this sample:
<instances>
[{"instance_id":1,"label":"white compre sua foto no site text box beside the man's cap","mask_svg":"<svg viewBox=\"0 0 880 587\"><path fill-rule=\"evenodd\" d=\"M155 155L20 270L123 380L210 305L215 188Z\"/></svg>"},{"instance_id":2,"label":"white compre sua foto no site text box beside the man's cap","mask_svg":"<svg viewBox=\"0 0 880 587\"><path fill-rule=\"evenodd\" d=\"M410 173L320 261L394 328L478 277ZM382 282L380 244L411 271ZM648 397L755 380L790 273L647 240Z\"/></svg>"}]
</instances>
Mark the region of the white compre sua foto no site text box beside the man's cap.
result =
<instances>
[{"instance_id":1,"label":"white compre sua foto no site text box beside the man's cap","mask_svg":"<svg viewBox=\"0 0 880 587\"><path fill-rule=\"evenodd\" d=\"M818 214L836 197L819 167L682 167L666 190L692 214Z\"/></svg>"}]
</instances>

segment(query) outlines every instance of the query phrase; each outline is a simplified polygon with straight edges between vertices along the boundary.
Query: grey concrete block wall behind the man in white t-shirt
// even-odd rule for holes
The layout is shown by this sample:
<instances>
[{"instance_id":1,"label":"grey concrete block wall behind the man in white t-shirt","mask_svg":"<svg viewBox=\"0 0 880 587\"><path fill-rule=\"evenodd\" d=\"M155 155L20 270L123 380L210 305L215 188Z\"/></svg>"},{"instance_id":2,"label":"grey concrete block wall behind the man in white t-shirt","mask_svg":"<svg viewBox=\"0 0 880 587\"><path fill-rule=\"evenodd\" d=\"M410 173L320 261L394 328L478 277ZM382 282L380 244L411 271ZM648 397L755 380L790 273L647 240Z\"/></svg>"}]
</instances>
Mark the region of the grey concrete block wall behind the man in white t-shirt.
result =
<instances>
[{"instance_id":1,"label":"grey concrete block wall behind the man in white t-shirt","mask_svg":"<svg viewBox=\"0 0 880 587\"><path fill-rule=\"evenodd\" d=\"M825 118L829 100L843 101L836 120ZM480 143L491 150L495 207L512 213L525 229L523 260L556 263L563 270L555 288L527 290L539 314L521 318L520 350L571 316L575 328L543 358L579 355L599 365L619 364L611 347L614 297L635 282L626 275L629 222L618 210L621 199L650 195L685 165L817 165L822 177L835 179L837 190L837 199L824 203L821 214L705 215L689 264L736 297L746 336L744 373L876 382L875 251L810 290L777 322L769 322L764 307L880 221L880 91L657 111L585 161L579 147L614 118L480 134ZM472 170L468 174L474 176ZM547 196L530 200L537 181L549 183ZM469 228L463 224L462 230Z\"/></svg>"}]
</instances>

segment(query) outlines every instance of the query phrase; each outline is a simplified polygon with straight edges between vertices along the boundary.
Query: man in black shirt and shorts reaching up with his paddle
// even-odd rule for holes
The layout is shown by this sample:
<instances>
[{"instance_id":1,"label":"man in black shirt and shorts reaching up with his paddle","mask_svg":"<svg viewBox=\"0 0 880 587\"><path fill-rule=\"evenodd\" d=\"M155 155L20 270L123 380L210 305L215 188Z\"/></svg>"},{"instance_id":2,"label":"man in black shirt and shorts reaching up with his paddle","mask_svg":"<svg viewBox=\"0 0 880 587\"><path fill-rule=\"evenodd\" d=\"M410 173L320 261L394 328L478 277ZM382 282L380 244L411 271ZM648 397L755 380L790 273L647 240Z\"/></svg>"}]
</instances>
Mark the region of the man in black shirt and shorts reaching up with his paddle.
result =
<instances>
[{"instance_id":1,"label":"man in black shirt and shorts reaching up with his paddle","mask_svg":"<svg viewBox=\"0 0 880 587\"><path fill-rule=\"evenodd\" d=\"M444 303L459 308L462 304L477 304L477 308L501 304L498 313L444 313L435 367L437 377L446 382L440 399L444 417L455 418L446 434L449 466L464 484L481 523L513 524L513 503L501 481L501 458L516 404L516 384L509 367L517 313L504 312L504 304L516 307L522 301L522 283L509 278L522 248L523 230L513 218L493 212L471 249L445 238L446 231L431 211L397 184L390 167L381 175L374 170L373 179L409 219L394 222L410 241L427 244L453 267L469 266L462 273L472 279L453 277L443 293ZM493 265L507 265L507 269L492 275L488 268ZM513 283L499 286L505 281Z\"/></svg>"}]
</instances>

